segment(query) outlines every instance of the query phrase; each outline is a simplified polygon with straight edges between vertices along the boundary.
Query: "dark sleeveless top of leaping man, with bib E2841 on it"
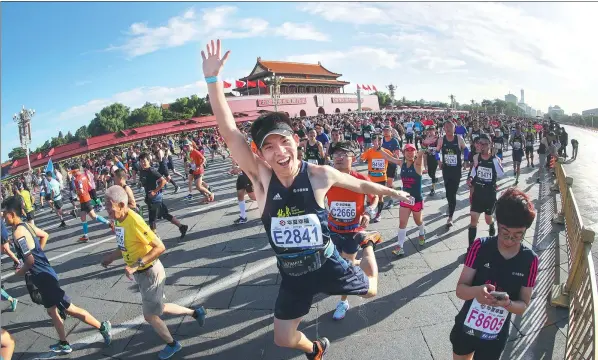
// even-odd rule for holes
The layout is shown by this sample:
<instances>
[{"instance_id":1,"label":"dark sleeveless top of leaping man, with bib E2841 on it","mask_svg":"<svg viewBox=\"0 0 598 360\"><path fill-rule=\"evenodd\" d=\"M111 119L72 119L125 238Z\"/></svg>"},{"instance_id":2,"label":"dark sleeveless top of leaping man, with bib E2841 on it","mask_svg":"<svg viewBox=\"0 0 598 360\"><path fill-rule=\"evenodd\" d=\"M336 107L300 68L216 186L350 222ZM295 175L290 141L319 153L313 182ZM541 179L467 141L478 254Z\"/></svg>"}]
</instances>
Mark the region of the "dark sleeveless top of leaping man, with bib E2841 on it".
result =
<instances>
[{"instance_id":1,"label":"dark sleeveless top of leaping man, with bib E2841 on it","mask_svg":"<svg viewBox=\"0 0 598 360\"><path fill-rule=\"evenodd\" d=\"M284 187L272 173L262 223L277 254L323 249L330 241L328 214L316 202L308 166L307 162L301 162L290 188Z\"/></svg>"}]
</instances>

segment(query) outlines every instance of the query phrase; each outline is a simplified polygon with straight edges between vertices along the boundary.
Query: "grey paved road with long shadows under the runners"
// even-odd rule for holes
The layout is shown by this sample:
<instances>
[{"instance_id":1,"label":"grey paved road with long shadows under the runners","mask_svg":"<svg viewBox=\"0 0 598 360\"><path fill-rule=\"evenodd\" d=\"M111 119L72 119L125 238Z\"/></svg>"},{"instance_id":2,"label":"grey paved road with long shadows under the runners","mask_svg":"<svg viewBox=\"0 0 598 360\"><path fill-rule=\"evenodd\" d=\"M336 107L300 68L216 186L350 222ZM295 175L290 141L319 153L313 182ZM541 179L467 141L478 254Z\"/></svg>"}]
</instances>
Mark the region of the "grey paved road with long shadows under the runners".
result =
<instances>
[{"instance_id":1,"label":"grey paved road with long shadows under the runners","mask_svg":"<svg viewBox=\"0 0 598 360\"><path fill-rule=\"evenodd\" d=\"M583 152L580 154L583 156ZM510 157L505 164L510 169ZM204 304L209 311L203 329L189 317L167 319L170 330L184 346L175 358L304 359L296 351L273 344L272 310L280 277L256 204L248 204L247 224L232 225L238 209L235 178L224 175L229 166L228 161L219 161L207 171L207 181L216 191L214 204L187 202L182 199L185 191L166 195L173 214L191 227L186 239L179 241L173 225L159 223L158 233L167 247L161 257L167 273L166 296L183 305ZM532 170L523 169L520 187L531 194L539 209L536 223L525 239L541 259L539 283L526 316L513 318L503 359L562 359L567 311L551 308L547 295L555 276L566 276L567 257L559 247L563 228L551 224L554 193L549 191L547 181L538 185L531 178L535 174ZM426 179L424 184L428 183ZM499 183L504 189L513 183L513 178L510 175ZM172 187L167 193L171 191ZM370 300L351 298L352 308L341 322L332 320L338 299L318 296L300 329L310 338L327 336L332 341L327 359L451 359L449 332L462 305L455 296L455 286L462 267L460 256L467 247L467 206L468 191L462 186L455 226L447 232L444 191L428 197L427 244L424 248L416 246L417 230L410 223L407 254L401 259L390 253L398 209L385 210L383 220L372 226L386 240L376 251L380 271L378 296ZM38 224L50 229L56 226L56 219L54 215L42 214ZM73 219L68 225L60 231L50 230L46 253L73 302L101 320L110 319L115 336L113 344L104 348L96 331L69 318L66 329L76 351L61 358L157 358L162 343L140 316L140 297L135 284L124 276L122 261L108 269L99 265L102 255L115 247L113 236L101 224L92 223L92 240L87 245L77 244L79 221ZM480 225L478 233L487 234L487 226ZM6 277L11 271L6 260L4 265L2 276ZM16 313L2 313L2 326L17 341L15 358L47 358L47 347L57 339L48 316L43 308L31 303L22 278L8 278L3 283L9 293L21 300Z\"/></svg>"}]
</instances>

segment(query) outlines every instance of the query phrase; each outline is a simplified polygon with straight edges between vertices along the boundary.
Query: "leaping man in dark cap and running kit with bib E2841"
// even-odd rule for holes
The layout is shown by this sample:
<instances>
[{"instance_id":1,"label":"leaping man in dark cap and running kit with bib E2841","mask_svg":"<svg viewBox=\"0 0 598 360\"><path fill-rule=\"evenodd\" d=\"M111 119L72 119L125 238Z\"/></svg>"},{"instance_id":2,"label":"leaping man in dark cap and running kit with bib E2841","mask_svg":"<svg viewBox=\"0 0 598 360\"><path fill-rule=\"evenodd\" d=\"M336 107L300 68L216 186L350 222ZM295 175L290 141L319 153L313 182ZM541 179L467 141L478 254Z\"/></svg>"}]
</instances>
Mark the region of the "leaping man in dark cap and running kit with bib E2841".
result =
<instances>
[{"instance_id":1,"label":"leaping man in dark cap and running kit with bib E2841","mask_svg":"<svg viewBox=\"0 0 598 360\"><path fill-rule=\"evenodd\" d=\"M218 75L230 52L221 57L220 40L202 51L203 72L218 130L232 157L250 178L270 245L276 252L282 282L274 310L274 342L295 348L308 359L322 359L329 347L326 338L311 341L297 330L311 307L313 296L359 295L372 297L378 288L374 254L380 237L360 243L359 266L343 259L330 239L326 193L332 186L362 194L393 196L409 202L409 195L386 186L359 180L330 166L297 159L299 137L284 112L258 118L251 127L257 154L249 149L235 124Z\"/></svg>"}]
</instances>

